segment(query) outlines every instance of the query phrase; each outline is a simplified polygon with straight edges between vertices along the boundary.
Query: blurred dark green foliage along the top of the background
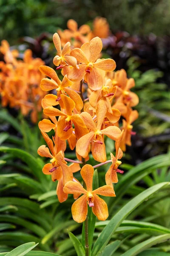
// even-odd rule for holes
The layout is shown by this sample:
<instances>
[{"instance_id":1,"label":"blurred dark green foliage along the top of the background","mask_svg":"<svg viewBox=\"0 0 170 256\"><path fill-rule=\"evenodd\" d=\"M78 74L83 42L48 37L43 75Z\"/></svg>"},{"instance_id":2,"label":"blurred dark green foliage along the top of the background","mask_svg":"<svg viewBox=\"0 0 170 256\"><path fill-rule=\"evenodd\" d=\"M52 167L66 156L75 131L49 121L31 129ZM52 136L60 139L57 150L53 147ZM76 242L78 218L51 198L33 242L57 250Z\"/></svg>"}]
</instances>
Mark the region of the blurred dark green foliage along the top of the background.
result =
<instances>
[{"instance_id":1,"label":"blurred dark green foliage along the top of the background","mask_svg":"<svg viewBox=\"0 0 170 256\"><path fill-rule=\"evenodd\" d=\"M23 36L65 29L70 18L82 25L96 16L106 17L113 32L164 35L169 33L169 13L167 0L0 0L0 40L12 44Z\"/></svg>"}]
</instances>

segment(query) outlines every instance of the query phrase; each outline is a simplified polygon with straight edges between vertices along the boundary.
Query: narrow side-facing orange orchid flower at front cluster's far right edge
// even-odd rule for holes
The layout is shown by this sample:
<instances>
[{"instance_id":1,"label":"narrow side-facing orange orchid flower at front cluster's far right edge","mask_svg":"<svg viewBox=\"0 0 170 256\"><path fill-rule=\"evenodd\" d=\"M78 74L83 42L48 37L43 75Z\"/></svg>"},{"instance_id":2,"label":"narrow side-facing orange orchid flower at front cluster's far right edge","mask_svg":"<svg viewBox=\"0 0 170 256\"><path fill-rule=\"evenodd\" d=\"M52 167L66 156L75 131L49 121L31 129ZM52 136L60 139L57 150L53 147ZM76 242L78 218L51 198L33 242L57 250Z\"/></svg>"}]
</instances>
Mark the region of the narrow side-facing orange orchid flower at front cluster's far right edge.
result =
<instances>
[{"instance_id":1,"label":"narrow side-facing orange orchid flower at front cluster's far right edge","mask_svg":"<svg viewBox=\"0 0 170 256\"><path fill-rule=\"evenodd\" d=\"M120 148L125 151L126 145L131 146L131 136L135 135L136 132L132 131L133 125L131 125L136 119L138 119L139 113L137 110L132 110L130 107L127 108L125 119L123 119L122 129L125 131L120 143Z\"/></svg>"}]
</instances>

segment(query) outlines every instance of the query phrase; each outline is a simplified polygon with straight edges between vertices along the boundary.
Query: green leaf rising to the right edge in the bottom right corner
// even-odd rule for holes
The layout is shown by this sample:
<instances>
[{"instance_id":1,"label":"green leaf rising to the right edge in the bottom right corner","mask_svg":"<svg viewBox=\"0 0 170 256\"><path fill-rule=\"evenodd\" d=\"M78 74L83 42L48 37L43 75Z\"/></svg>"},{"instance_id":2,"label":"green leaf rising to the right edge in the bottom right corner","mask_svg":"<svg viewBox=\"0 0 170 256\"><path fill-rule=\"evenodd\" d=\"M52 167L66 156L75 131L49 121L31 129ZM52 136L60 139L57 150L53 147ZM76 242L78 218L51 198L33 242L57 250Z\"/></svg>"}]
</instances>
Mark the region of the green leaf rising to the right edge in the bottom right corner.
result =
<instances>
[{"instance_id":1,"label":"green leaf rising to the right edge in the bottom right corner","mask_svg":"<svg viewBox=\"0 0 170 256\"><path fill-rule=\"evenodd\" d=\"M170 234L165 234L161 236L152 237L150 239L147 239L146 241L137 244L136 246L130 248L130 250L127 250L125 253L122 254L122 256L136 256L138 253L144 251L147 248L150 248L151 246L159 243L163 243L170 239Z\"/></svg>"}]
</instances>

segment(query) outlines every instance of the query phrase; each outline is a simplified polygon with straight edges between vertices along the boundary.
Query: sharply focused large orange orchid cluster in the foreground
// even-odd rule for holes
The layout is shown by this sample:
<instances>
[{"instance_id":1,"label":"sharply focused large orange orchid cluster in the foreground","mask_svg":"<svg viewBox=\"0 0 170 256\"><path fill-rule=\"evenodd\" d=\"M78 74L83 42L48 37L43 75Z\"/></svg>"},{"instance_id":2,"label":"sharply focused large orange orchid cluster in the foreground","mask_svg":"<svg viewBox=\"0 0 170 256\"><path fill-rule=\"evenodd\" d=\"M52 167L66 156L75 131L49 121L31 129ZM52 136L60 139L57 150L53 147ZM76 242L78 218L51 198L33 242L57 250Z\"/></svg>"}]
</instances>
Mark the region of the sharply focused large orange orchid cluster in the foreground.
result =
<instances>
[{"instance_id":1,"label":"sharply focused large orange orchid cluster in the foreground","mask_svg":"<svg viewBox=\"0 0 170 256\"><path fill-rule=\"evenodd\" d=\"M53 181L58 180L59 202L65 201L68 194L74 194L74 199L78 198L71 208L74 220L85 221L89 205L97 218L104 221L108 218L108 207L98 195L115 196L112 183L118 182L117 172L123 173L119 170L120 159L126 145L131 145L131 135L134 133L131 124L138 118L137 111L132 107L138 104L139 99L130 91L135 83L133 79L127 79L125 70L113 72L115 61L99 58L102 40L94 37L90 42L85 41L82 31L88 31L88 26L84 25L78 30L74 20L68 21L68 27L71 31L60 33L62 43L57 33L53 36L57 49L54 64L57 70L62 70L62 81L51 67L39 68L43 75L49 77L42 79L41 89L56 90L57 93L45 95L42 99L43 113L49 119L40 121L39 128L48 147L40 146L38 154L51 158L42 172L51 175ZM66 40L70 33L71 37L81 39L79 43L84 43L80 48L71 47L70 41ZM119 128L121 116L122 127ZM47 133L52 129L55 135L51 139ZM111 153L111 160L108 161L105 136L115 141L116 149L116 156ZM71 150L76 148L79 161L64 157L66 140ZM96 166L86 164L90 152L100 162ZM69 161L72 162L70 166L67 165ZM105 175L106 185L93 190L94 168L110 162ZM79 163L83 163L82 169ZM74 178L74 172L80 169L85 188Z\"/></svg>"}]
</instances>

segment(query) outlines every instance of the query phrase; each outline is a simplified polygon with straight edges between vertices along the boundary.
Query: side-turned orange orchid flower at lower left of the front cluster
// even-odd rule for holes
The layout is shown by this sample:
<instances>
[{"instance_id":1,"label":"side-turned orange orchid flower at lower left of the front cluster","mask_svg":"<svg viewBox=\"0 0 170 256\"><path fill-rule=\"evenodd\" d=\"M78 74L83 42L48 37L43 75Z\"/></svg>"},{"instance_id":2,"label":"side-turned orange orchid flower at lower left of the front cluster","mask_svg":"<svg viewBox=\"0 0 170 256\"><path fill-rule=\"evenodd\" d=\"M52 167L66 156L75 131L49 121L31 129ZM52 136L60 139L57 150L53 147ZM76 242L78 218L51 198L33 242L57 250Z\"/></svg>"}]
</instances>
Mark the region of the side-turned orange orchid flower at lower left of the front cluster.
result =
<instances>
[{"instance_id":1,"label":"side-turned orange orchid flower at lower left of the front cluster","mask_svg":"<svg viewBox=\"0 0 170 256\"><path fill-rule=\"evenodd\" d=\"M54 146L53 141L48 137L45 132L41 131L41 133L45 142L48 145L48 148L45 145L41 145L38 148L37 152L41 157L51 158L51 163L45 164L42 172L46 175L51 175L51 179L53 181L59 180L63 177L63 184L65 184L69 180L73 180L73 174L70 168L67 166L67 162L64 160L62 150L59 151L56 144Z\"/></svg>"}]
</instances>

